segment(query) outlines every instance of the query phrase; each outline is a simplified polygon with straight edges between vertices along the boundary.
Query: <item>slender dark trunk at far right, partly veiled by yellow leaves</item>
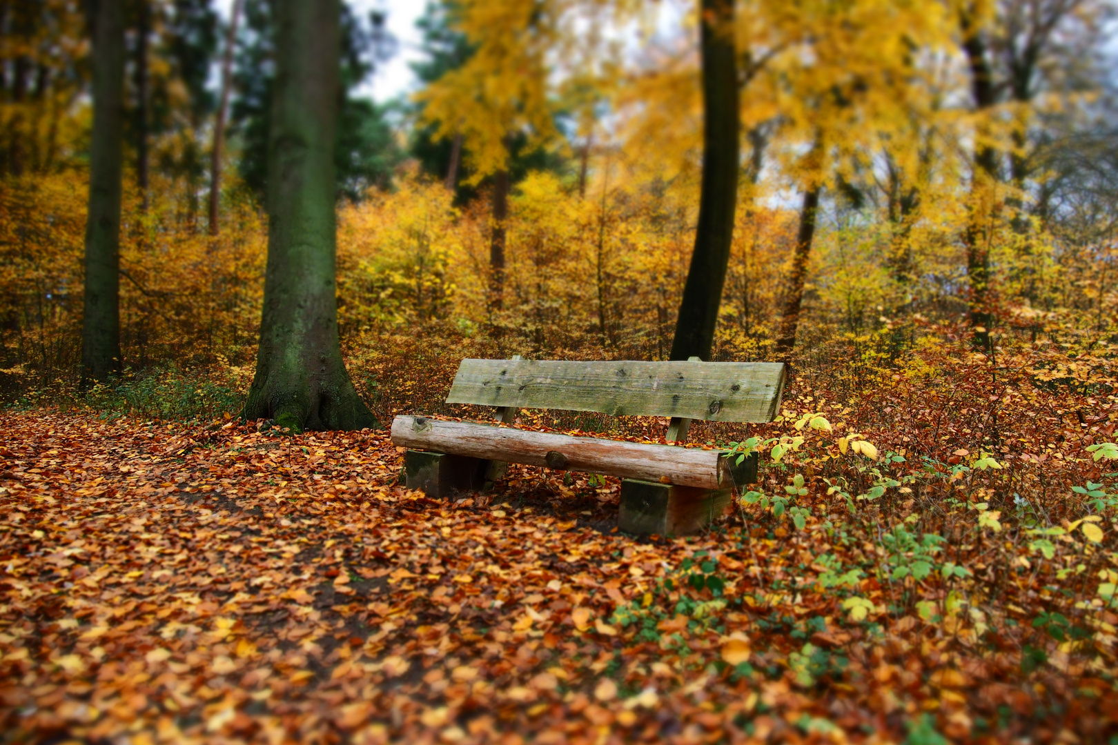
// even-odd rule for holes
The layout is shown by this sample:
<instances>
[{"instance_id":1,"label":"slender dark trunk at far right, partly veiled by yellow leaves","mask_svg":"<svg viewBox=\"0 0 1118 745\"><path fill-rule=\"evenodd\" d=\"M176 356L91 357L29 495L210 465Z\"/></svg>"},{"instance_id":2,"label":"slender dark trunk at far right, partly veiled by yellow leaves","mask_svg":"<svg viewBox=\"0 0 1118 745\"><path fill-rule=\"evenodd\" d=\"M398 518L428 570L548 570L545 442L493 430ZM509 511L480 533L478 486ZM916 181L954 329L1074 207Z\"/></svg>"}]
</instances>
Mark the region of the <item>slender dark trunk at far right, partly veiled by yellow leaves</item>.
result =
<instances>
[{"instance_id":1,"label":"slender dark trunk at far right, partly veiled by yellow leaves","mask_svg":"<svg viewBox=\"0 0 1118 745\"><path fill-rule=\"evenodd\" d=\"M973 9L961 12L963 49L970 69L970 93L979 114L996 103L994 71L986 58L986 41L974 26ZM997 152L983 142L987 134L979 122L976 133L974 173L970 181L970 214L964 240L967 245L967 280L969 283L969 321L975 346L991 350L989 327L994 316L989 311L989 231L993 229L996 204Z\"/></svg>"}]
</instances>

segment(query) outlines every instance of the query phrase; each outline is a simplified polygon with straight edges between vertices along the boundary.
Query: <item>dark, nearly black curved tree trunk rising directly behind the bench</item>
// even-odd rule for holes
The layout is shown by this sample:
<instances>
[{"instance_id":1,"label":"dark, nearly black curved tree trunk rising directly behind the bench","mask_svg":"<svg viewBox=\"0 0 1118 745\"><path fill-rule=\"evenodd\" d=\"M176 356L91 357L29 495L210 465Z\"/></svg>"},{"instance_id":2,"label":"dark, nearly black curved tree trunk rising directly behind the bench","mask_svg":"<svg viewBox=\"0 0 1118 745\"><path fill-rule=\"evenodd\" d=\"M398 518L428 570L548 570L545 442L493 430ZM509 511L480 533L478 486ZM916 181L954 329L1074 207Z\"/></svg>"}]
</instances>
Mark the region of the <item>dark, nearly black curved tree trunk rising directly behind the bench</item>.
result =
<instances>
[{"instance_id":1,"label":"dark, nearly black curved tree trunk rising directly behind the bench","mask_svg":"<svg viewBox=\"0 0 1118 745\"><path fill-rule=\"evenodd\" d=\"M695 249L675 322L672 360L710 359L738 199L740 114L733 0L702 0L701 11L702 89L707 113L702 194Z\"/></svg>"}]
</instances>

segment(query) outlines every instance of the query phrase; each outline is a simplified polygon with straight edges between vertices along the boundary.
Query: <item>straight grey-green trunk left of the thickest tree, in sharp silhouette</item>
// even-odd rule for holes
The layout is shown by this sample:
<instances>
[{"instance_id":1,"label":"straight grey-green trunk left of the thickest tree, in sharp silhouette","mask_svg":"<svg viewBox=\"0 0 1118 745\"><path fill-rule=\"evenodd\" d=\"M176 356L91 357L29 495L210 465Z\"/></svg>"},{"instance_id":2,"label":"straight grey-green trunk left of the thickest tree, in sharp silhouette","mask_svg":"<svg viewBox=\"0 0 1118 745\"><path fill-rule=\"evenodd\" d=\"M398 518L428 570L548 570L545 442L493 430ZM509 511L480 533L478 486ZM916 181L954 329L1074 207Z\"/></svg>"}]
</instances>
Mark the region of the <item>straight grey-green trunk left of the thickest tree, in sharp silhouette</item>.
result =
<instances>
[{"instance_id":1,"label":"straight grey-green trunk left of the thickest tree, in sharp silhouette","mask_svg":"<svg viewBox=\"0 0 1118 745\"><path fill-rule=\"evenodd\" d=\"M93 26L93 136L85 230L82 384L121 369L120 248L124 0L98 0Z\"/></svg>"}]
</instances>

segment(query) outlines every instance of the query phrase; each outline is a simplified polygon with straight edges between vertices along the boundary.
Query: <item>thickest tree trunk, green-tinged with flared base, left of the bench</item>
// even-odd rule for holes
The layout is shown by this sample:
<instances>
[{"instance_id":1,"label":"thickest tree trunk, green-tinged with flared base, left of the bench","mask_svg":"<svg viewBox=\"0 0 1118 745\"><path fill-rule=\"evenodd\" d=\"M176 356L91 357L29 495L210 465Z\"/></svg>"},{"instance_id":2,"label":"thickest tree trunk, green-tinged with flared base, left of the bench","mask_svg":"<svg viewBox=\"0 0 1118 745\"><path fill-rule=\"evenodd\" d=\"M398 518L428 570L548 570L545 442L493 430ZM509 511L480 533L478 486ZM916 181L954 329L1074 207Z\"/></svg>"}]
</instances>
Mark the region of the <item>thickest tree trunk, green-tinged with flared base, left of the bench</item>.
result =
<instances>
[{"instance_id":1,"label":"thickest tree trunk, green-tinged with flared base, left of the bench","mask_svg":"<svg viewBox=\"0 0 1118 745\"><path fill-rule=\"evenodd\" d=\"M338 338L340 1L277 0L276 32L264 315L244 416L293 430L377 427L345 371Z\"/></svg>"}]
</instances>

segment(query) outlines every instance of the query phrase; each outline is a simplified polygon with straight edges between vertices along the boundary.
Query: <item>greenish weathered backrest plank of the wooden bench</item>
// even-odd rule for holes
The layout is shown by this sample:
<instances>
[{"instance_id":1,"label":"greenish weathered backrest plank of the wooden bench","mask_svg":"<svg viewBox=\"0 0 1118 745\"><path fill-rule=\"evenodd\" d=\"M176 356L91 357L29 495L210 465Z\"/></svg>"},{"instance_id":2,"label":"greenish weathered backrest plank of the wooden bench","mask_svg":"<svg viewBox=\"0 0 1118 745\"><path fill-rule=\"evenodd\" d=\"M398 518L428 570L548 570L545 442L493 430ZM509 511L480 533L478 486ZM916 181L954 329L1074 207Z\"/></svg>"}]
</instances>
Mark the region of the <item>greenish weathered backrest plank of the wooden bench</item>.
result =
<instances>
[{"instance_id":1,"label":"greenish weathered backrest plank of the wooden bench","mask_svg":"<svg viewBox=\"0 0 1118 745\"><path fill-rule=\"evenodd\" d=\"M769 422L784 378L773 362L463 360L446 402Z\"/></svg>"}]
</instances>

